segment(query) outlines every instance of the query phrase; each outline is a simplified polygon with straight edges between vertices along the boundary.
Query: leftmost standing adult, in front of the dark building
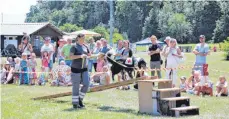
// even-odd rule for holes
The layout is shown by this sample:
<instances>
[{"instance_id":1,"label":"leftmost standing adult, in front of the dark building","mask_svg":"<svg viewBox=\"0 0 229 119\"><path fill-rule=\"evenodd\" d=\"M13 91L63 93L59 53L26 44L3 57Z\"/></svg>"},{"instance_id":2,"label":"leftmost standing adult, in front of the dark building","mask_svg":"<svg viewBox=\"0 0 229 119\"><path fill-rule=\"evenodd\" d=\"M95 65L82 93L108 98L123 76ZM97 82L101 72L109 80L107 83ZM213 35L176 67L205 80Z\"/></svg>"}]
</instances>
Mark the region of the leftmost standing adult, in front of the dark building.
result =
<instances>
[{"instance_id":1,"label":"leftmost standing adult, in front of the dark building","mask_svg":"<svg viewBox=\"0 0 229 119\"><path fill-rule=\"evenodd\" d=\"M29 43L29 36L23 36L21 44L18 46L21 53L26 53L28 57L33 52L33 46Z\"/></svg>"}]
</instances>

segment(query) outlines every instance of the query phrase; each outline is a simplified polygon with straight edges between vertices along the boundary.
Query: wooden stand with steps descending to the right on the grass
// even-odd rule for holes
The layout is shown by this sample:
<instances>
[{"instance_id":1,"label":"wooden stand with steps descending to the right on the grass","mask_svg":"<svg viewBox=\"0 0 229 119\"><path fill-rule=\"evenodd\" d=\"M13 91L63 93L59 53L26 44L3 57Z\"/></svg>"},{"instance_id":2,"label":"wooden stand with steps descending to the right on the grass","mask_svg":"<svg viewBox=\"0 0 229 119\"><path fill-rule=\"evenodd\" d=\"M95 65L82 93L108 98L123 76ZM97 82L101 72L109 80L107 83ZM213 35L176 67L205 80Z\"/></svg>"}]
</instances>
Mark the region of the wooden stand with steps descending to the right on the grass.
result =
<instances>
[{"instance_id":1,"label":"wooden stand with steps descending to the right on the grass","mask_svg":"<svg viewBox=\"0 0 229 119\"><path fill-rule=\"evenodd\" d=\"M153 87L158 83L158 88ZM198 115L199 108L190 106L188 97L180 97L180 89L172 88L172 80L138 81L139 112L153 115Z\"/></svg>"}]
</instances>

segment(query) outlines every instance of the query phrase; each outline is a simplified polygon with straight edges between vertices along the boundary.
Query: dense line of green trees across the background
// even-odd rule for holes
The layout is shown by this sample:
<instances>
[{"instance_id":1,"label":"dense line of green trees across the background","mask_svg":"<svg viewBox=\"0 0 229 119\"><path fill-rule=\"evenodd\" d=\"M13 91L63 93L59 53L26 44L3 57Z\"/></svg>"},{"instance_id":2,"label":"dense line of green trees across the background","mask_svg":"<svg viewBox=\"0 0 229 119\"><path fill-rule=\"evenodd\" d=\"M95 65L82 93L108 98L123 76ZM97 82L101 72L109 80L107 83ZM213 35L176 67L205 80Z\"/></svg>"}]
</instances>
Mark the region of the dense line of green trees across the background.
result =
<instances>
[{"instance_id":1,"label":"dense line of green trees across the background","mask_svg":"<svg viewBox=\"0 0 229 119\"><path fill-rule=\"evenodd\" d=\"M229 36L228 1L113 1L114 36L136 42L156 35L179 43L208 42ZM38 1L25 22L51 22L66 32L92 29L109 38L108 1Z\"/></svg>"}]
</instances>

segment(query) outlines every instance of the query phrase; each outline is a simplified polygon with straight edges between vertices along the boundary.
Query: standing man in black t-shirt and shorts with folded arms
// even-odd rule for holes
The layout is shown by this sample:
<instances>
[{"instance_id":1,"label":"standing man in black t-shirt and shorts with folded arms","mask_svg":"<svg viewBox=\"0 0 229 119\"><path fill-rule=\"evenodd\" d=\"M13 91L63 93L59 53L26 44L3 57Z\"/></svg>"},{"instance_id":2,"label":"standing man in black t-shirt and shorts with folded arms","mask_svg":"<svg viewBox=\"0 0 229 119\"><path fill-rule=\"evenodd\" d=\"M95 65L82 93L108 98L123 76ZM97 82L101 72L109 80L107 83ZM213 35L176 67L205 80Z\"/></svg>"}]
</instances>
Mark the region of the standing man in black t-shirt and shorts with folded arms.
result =
<instances>
[{"instance_id":1,"label":"standing man in black t-shirt and shorts with folded arms","mask_svg":"<svg viewBox=\"0 0 229 119\"><path fill-rule=\"evenodd\" d=\"M157 43L157 37L155 35L152 35L150 39L152 42L148 53L148 55L150 55L150 68L156 69L158 78L161 78L161 46ZM155 71L151 71L151 76L154 75Z\"/></svg>"}]
</instances>

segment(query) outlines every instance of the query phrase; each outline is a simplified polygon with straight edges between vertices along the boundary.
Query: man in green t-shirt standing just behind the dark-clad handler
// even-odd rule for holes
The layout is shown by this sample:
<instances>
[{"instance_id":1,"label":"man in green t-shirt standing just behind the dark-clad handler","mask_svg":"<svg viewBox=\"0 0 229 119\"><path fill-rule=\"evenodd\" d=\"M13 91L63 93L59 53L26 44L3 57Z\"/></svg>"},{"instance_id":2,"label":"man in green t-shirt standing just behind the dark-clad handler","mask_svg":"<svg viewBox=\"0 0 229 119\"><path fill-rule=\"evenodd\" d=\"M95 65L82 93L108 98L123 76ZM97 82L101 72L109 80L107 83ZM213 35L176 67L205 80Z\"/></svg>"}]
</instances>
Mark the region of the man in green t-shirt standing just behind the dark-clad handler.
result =
<instances>
[{"instance_id":1,"label":"man in green t-shirt standing just behind the dark-clad handler","mask_svg":"<svg viewBox=\"0 0 229 119\"><path fill-rule=\"evenodd\" d=\"M71 66L72 60L70 59L70 49L72 47L72 39L67 38L67 44L65 44L62 48L62 56L65 59L65 64Z\"/></svg>"}]
</instances>

